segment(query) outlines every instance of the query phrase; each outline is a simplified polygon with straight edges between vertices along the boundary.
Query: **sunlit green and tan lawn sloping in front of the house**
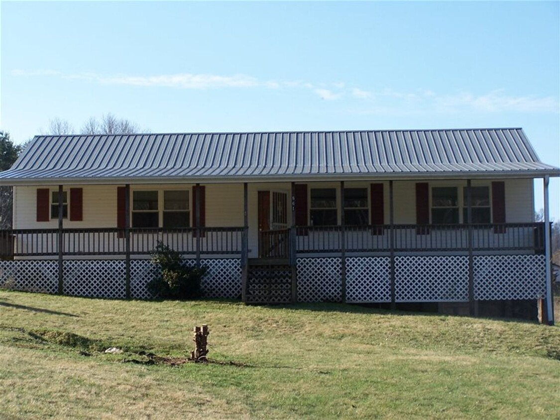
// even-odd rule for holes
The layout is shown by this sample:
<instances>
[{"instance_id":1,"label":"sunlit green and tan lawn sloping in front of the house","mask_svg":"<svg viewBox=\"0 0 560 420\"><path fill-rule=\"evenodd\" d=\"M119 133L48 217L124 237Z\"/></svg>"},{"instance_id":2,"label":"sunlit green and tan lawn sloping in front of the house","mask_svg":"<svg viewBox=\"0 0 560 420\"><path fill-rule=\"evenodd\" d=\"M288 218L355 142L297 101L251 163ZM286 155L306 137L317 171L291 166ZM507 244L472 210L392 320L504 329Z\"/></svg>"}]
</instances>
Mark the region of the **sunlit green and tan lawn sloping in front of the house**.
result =
<instances>
[{"instance_id":1,"label":"sunlit green and tan lawn sloping in front of the house","mask_svg":"<svg viewBox=\"0 0 560 420\"><path fill-rule=\"evenodd\" d=\"M203 323L219 363L147 363ZM0 291L0 418L557 418L559 389L557 326Z\"/></svg>"}]
</instances>

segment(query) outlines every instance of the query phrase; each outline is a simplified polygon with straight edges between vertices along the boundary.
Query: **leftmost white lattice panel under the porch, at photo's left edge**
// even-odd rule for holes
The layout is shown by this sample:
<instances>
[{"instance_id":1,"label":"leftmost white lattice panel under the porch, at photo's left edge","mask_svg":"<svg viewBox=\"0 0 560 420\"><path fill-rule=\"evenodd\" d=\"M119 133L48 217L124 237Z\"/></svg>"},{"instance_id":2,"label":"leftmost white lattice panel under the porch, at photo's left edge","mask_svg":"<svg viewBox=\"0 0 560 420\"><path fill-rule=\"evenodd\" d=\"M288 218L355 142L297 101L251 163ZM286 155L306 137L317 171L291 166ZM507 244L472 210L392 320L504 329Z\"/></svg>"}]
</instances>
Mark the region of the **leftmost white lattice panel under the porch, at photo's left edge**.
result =
<instances>
[{"instance_id":1,"label":"leftmost white lattice panel under the porch, at photo's left edge","mask_svg":"<svg viewBox=\"0 0 560 420\"><path fill-rule=\"evenodd\" d=\"M0 261L0 287L28 292L57 293L58 261Z\"/></svg>"}]
</instances>

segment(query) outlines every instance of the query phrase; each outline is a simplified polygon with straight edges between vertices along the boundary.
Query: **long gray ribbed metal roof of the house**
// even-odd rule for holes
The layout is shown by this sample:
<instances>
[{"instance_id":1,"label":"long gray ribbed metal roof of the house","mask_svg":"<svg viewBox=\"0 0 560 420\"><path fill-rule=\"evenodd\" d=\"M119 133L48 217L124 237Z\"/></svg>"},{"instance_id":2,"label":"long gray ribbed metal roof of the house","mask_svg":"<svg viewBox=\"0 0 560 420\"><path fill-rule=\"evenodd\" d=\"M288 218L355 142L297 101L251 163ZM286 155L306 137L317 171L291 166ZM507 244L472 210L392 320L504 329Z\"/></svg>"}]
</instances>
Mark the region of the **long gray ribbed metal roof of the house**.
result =
<instances>
[{"instance_id":1,"label":"long gray ribbed metal roof of the house","mask_svg":"<svg viewBox=\"0 0 560 420\"><path fill-rule=\"evenodd\" d=\"M0 184L559 176L520 128L36 136Z\"/></svg>"}]
</instances>

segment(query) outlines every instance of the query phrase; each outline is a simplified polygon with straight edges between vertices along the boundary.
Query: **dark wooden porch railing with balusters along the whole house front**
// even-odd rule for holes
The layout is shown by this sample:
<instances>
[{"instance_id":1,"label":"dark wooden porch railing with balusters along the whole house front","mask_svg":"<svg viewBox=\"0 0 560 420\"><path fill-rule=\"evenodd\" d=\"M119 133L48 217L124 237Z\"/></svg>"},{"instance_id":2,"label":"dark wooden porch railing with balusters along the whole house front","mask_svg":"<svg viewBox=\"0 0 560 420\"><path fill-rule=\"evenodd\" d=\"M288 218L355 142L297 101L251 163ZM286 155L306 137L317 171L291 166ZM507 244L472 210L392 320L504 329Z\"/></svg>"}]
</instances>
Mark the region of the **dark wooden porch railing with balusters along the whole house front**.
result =
<instances>
[{"instance_id":1,"label":"dark wooden porch railing with balusters along the whole house front","mask_svg":"<svg viewBox=\"0 0 560 420\"><path fill-rule=\"evenodd\" d=\"M473 251L544 252L544 223L297 226L293 231L297 234L296 253L306 254L339 253L343 249L346 253L468 251L469 230ZM288 258L293 243L290 232L260 232L259 255ZM62 252L68 256L125 255L124 233L118 228L63 229ZM181 254L242 254L243 227L202 227L200 237L197 234L196 228L130 228L130 255L150 254L157 241ZM57 229L0 231L0 257L58 255L58 235Z\"/></svg>"}]
</instances>

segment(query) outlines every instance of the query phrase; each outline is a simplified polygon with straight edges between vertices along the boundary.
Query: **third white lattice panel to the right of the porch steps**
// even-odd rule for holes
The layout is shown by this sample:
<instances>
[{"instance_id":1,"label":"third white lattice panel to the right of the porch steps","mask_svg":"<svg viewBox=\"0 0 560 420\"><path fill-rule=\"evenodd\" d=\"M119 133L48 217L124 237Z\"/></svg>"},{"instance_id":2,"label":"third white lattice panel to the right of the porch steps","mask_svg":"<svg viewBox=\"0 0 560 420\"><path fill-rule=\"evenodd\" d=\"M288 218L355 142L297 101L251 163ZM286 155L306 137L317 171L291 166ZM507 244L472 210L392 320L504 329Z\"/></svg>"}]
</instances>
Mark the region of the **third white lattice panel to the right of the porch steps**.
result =
<instances>
[{"instance_id":1,"label":"third white lattice panel to the right of the porch steps","mask_svg":"<svg viewBox=\"0 0 560 420\"><path fill-rule=\"evenodd\" d=\"M396 302L464 302L469 300L469 258L396 256Z\"/></svg>"}]
</instances>

